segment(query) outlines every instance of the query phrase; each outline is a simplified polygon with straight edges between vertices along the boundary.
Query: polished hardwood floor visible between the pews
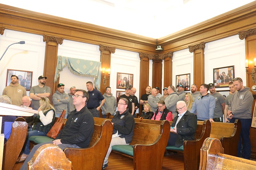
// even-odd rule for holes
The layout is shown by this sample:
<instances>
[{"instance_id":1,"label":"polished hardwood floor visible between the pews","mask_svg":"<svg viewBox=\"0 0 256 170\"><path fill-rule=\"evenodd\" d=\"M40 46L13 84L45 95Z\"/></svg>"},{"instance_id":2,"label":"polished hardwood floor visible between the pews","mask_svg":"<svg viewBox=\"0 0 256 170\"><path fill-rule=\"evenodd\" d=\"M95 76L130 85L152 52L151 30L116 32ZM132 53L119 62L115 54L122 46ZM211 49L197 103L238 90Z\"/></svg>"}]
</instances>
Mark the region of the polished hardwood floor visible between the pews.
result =
<instances>
[{"instance_id":1,"label":"polished hardwood floor visible between the pews","mask_svg":"<svg viewBox=\"0 0 256 170\"><path fill-rule=\"evenodd\" d=\"M147 160L145 160L147 161ZM19 170L23 162L16 163L13 170ZM106 170L132 170L133 160L111 152ZM163 170L183 170L183 154L171 153L164 155Z\"/></svg>"}]
</instances>

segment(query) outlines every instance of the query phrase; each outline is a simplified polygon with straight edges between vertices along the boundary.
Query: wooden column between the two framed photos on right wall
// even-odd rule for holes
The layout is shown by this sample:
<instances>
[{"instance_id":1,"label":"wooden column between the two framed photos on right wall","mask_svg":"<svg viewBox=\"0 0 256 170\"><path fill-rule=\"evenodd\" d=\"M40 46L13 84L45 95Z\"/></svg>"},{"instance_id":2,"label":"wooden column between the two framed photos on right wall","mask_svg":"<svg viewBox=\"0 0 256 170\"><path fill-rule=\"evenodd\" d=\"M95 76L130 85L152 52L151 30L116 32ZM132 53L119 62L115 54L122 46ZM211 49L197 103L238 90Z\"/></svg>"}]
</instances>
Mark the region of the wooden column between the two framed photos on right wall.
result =
<instances>
[{"instance_id":1,"label":"wooden column between the two framed photos on right wall","mask_svg":"<svg viewBox=\"0 0 256 170\"><path fill-rule=\"evenodd\" d=\"M189 52L194 52L194 84L198 87L204 83L204 47L204 42L188 46Z\"/></svg>"}]
</instances>

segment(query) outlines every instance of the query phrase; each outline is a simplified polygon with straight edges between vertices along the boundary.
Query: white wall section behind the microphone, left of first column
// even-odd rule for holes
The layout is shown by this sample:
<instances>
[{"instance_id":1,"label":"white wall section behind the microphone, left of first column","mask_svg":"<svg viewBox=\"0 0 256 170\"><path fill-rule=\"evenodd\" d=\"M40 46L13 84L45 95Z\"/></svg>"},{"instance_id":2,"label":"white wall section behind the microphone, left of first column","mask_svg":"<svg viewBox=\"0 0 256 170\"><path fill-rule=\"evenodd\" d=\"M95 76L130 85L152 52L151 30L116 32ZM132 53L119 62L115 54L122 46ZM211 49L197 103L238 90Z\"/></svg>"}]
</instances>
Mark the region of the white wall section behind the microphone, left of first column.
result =
<instances>
[{"instance_id":1,"label":"white wall section behind the microphone, left of first column","mask_svg":"<svg viewBox=\"0 0 256 170\"><path fill-rule=\"evenodd\" d=\"M45 42L43 36L4 30L0 36L0 54L12 43L25 41L25 44L13 44L0 61L0 93L6 85L7 69L33 71L32 86L38 85L38 77L44 73ZM27 91L27 95L29 91Z\"/></svg>"}]
</instances>

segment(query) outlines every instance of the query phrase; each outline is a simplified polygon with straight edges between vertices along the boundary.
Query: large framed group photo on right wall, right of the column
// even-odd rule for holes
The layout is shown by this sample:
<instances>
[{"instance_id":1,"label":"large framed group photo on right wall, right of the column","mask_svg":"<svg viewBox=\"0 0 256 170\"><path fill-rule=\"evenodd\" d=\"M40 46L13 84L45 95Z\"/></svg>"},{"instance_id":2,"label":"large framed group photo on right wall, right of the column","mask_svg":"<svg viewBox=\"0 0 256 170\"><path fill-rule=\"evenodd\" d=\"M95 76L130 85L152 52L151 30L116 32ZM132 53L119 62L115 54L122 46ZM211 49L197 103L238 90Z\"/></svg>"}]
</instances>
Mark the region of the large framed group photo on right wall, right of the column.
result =
<instances>
[{"instance_id":1,"label":"large framed group photo on right wall, right of the column","mask_svg":"<svg viewBox=\"0 0 256 170\"><path fill-rule=\"evenodd\" d=\"M235 66L213 69L213 83L215 87L228 87L228 83L235 77Z\"/></svg>"}]
</instances>

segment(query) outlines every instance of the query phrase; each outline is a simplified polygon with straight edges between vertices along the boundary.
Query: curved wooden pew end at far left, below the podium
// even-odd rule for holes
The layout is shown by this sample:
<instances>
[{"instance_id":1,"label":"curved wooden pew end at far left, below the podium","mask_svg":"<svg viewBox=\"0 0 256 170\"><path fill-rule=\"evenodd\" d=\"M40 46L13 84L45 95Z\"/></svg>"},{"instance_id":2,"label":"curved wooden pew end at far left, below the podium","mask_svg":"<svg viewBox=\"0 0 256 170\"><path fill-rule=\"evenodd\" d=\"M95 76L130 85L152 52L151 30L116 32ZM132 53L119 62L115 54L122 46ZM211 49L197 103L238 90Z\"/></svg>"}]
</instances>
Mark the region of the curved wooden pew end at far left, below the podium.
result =
<instances>
[{"instance_id":1,"label":"curved wooden pew end at far left, below the podium","mask_svg":"<svg viewBox=\"0 0 256 170\"><path fill-rule=\"evenodd\" d=\"M3 169L12 170L16 160L19 157L20 151L25 143L28 132L28 123L24 118L18 117L12 123L12 132L4 144L3 152Z\"/></svg>"}]
</instances>

